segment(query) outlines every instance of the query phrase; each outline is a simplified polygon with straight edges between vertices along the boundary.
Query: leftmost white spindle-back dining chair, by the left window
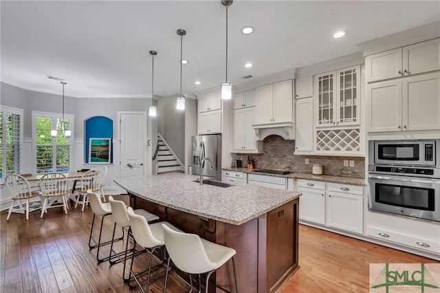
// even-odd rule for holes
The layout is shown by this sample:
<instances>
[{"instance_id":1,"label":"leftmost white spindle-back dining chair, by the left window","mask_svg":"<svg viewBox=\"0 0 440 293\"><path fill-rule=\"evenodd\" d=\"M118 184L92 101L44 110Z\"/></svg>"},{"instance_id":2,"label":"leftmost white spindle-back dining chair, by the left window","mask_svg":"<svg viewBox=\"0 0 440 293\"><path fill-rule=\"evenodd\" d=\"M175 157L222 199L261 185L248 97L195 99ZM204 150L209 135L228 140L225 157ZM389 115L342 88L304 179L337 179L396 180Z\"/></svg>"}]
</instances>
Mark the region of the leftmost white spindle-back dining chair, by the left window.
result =
<instances>
[{"instance_id":1,"label":"leftmost white spindle-back dining chair, by the left window","mask_svg":"<svg viewBox=\"0 0 440 293\"><path fill-rule=\"evenodd\" d=\"M25 177L19 174L10 174L6 176L5 184L8 186L12 199L6 221L9 220L12 212L25 213L26 221L28 221L30 212L41 209L41 193L38 191L32 192L29 182ZM39 198L39 200L31 202L30 199L34 198Z\"/></svg>"}]
</instances>

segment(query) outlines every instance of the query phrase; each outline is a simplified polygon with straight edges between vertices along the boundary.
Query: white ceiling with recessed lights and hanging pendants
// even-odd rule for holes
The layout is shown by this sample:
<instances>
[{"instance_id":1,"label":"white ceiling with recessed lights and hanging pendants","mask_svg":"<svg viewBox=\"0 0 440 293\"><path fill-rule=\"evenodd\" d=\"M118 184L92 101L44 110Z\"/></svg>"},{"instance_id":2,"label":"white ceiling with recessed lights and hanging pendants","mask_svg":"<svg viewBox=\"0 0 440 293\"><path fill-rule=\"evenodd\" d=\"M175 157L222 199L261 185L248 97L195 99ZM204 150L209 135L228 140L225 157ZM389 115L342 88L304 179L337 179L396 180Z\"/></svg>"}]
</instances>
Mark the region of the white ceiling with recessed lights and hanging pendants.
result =
<instances>
[{"instance_id":1,"label":"white ceiling with recessed lights and hanging pendants","mask_svg":"<svg viewBox=\"0 0 440 293\"><path fill-rule=\"evenodd\" d=\"M151 97L225 82L225 7L215 1L1 1L1 81L66 96ZM234 1L228 81L246 83L358 52L358 44L440 20L440 1ZM253 34L241 29L252 26ZM347 30L333 39L337 30ZM252 68L244 64L251 62ZM201 85L195 85L199 80Z\"/></svg>"}]
</instances>

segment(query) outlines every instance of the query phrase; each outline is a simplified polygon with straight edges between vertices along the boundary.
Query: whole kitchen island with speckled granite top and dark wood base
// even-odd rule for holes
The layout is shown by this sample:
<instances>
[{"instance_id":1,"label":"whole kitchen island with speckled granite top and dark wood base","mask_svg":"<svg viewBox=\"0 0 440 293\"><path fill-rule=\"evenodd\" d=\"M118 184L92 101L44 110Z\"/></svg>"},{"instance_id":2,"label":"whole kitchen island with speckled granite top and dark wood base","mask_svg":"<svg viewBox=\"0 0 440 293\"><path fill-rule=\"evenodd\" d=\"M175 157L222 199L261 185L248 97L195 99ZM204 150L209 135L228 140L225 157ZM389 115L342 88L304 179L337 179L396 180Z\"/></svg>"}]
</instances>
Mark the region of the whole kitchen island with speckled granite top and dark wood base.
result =
<instances>
[{"instance_id":1,"label":"whole kitchen island with speckled granite top and dark wood base","mask_svg":"<svg viewBox=\"0 0 440 293\"><path fill-rule=\"evenodd\" d=\"M167 173L115 182L131 195L131 206L234 248L239 292L278 290L298 269L299 193L248 184L200 185L196 179ZM214 279L234 290L232 263L217 270Z\"/></svg>"}]
</instances>

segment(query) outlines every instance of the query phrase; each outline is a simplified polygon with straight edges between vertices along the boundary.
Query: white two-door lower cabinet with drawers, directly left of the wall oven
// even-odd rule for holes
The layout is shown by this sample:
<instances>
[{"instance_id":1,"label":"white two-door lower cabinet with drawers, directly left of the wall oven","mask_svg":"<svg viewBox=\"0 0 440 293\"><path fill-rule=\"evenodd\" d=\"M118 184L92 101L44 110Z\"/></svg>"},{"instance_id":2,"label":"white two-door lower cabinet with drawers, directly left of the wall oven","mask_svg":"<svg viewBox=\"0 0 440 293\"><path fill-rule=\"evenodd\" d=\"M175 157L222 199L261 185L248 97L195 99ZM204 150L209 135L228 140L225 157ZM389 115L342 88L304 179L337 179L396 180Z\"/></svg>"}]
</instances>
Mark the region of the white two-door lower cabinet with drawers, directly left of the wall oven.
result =
<instances>
[{"instance_id":1,"label":"white two-door lower cabinet with drawers, directly left of the wall oven","mask_svg":"<svg viewBox=\"0 0 440 293\"><path fill-rule=\"evenodd\" d=\"M296 180L300 197L300 220L362 234L364 188L350 184Z\"/></svg>"}]
</instances>

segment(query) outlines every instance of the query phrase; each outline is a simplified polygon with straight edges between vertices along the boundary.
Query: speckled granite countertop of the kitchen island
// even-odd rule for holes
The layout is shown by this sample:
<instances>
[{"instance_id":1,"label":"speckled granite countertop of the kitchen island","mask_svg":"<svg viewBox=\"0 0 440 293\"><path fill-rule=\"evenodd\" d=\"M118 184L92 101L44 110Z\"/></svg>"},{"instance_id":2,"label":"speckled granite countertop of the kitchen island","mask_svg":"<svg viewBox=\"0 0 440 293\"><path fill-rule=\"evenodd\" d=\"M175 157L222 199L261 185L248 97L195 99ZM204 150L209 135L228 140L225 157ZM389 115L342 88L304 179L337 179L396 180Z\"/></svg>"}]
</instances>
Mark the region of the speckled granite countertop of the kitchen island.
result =
<instances>
[{"instance_id":1,"label":"speckled granite countertop of the kitchen island","mask_svg":"<svg viewBox=\"0 0 440 293\"><path fill-rule=\"evenodd\" d=\"M241 225L300 196L294 191L249 184L227 188L200 185L196 175L166 173L114 180L155 204L228 224Z\"/></svg>"}]
</instances>

